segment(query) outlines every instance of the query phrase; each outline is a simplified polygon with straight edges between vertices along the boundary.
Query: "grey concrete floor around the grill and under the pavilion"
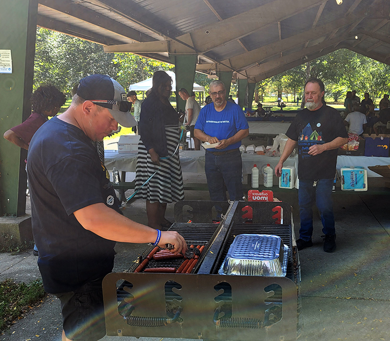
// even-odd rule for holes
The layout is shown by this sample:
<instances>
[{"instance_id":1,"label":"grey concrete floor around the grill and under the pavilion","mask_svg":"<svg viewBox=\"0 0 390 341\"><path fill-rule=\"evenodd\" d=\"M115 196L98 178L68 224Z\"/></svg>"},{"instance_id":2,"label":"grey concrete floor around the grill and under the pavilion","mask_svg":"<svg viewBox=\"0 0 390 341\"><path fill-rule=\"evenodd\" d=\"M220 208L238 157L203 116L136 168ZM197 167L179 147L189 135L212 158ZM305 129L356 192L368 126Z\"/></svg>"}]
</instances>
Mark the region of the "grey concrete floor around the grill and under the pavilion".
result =
<instances>
[{"instance_id":1,"label":"grey concrete floor around the grill and under the pavilion","mask_svg":"<svg viewBox=\"0 0 390 341\"><path fill-rule=\"evenodd\" d=\"M205 177L204 174L185 173L184 181L205 182ZM210 199L208 192L186 191L185 195L186 200ZM299 210L295 191L284 195L277 193L276 196L292 205L295 233L298 235ZM299 252L304 324L299 340L390 340L389 197L342 193L334 195L333 199L336 251L325 253L322 250L321 222L318 213L315 213L314 246ZM167 208L167 218L172 221L173 206L171 204ZM127 205L124 214L137 222L146 223L142 201ZM118 243L114 271L127 270L144 247ZM0 254L0 280L12 277L28 282L38 278L36 261L32 250L16 256ZM59 302L49 296L14 323L0 336L0 340L59 341L60 334ZM119 338L106 336L102 340L117 341Z\"/></svg>"}]
</instances>

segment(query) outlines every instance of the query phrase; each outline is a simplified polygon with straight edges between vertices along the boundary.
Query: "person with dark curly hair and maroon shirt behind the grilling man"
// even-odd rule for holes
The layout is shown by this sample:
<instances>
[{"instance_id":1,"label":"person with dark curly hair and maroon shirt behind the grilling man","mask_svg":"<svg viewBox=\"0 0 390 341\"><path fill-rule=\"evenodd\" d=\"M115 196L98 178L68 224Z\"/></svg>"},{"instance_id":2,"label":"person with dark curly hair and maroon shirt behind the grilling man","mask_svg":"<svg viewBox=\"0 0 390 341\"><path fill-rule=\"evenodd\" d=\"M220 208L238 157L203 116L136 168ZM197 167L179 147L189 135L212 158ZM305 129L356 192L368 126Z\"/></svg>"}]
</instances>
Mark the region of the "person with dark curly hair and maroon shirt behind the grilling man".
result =
<instances>
[{"instance_id":1,"label":"person with dark curly hair and maroon shirt behind the grilling man","mask_svg":"<svg viewBox=\"0 0 390 341\"><path fill-rule=\"evenodd\" d=\"M32 114L20 125L7 130L4 138L20 148L28 150L28 145L39 127L48 116L58 114L66 97L54 86L40 86L31 96Z\"/></svg>"}]
</instances>

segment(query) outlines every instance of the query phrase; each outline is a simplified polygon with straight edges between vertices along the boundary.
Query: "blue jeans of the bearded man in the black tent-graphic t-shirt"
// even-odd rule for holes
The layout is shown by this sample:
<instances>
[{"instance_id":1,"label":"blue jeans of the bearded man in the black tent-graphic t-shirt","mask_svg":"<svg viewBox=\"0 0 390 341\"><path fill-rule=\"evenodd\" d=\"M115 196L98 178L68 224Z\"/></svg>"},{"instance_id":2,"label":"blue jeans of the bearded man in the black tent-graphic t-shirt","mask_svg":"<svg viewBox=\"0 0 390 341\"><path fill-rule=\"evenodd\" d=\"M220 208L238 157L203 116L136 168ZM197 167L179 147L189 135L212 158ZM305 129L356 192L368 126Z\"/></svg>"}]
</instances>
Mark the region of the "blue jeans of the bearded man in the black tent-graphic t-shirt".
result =
<instances>
[{"instance_id":1,"label":"blue jeans of the bearded man in the black tent-graphic t-shirt","mask_svg":"<svg viewBox=\"0 0 390 341\"><path fill-rule=\"evenodd\" d=\"M332 206L332 186L333 179L320 179L317 185L313 187L313 180L299 179L299 217L301 219L301 228L299 229L299 238L308 241L313 233L313 210L314 202L320 211L322 221L322 232L325 235L336 233L334 228L334 215Z\"/></svg>"}]
</instances>

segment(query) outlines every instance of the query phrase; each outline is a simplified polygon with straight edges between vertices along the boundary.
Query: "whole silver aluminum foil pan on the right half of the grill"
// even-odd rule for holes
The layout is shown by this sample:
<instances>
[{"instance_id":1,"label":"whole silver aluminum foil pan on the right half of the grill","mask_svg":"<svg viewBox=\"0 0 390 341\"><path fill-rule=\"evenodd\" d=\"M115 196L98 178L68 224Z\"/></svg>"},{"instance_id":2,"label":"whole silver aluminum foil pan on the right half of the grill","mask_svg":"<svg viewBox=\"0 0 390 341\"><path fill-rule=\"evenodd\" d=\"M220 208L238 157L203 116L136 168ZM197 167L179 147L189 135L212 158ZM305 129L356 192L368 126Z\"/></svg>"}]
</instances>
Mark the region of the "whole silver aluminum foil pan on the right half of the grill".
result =
<instances>
[{"instance_id":1,"label":"whole silver aluminum foil pan on the right half of the grill","mask_svg":"<svg viewBox=\"0 0 390 341\"><path fill-rule=\"evenodd\" d=\"M279 236L239 234L234 238L218 273L236 276L284 277L289 247Z\"/></svg>"}]
</instances>

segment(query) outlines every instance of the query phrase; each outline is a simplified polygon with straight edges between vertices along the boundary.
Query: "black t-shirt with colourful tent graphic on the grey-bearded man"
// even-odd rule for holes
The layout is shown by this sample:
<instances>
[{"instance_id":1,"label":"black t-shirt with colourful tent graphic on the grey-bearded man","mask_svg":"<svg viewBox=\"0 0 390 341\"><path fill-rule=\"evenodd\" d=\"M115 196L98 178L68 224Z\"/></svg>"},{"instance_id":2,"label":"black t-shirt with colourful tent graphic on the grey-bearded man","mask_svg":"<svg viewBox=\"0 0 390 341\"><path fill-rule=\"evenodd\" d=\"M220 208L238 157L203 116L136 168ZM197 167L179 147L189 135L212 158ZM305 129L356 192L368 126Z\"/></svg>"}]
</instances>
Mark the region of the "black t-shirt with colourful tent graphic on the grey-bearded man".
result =
<instances>
[{"instance_id":1,"label":"black t-shirt with colourful tent graphic on the grey-bearded man","mask_svg":"<svg viewBox=\"0 0 390 341\"><path fill-rule=\"evenodd\" d=\"M333 179L336 173L337 149L309 155L312 145L348 137L343 120L336 109L323 105L320 109L304 109L292 121L286 135L298 141L298 176L300 179Z\"/></svg>"}]
</instances>

